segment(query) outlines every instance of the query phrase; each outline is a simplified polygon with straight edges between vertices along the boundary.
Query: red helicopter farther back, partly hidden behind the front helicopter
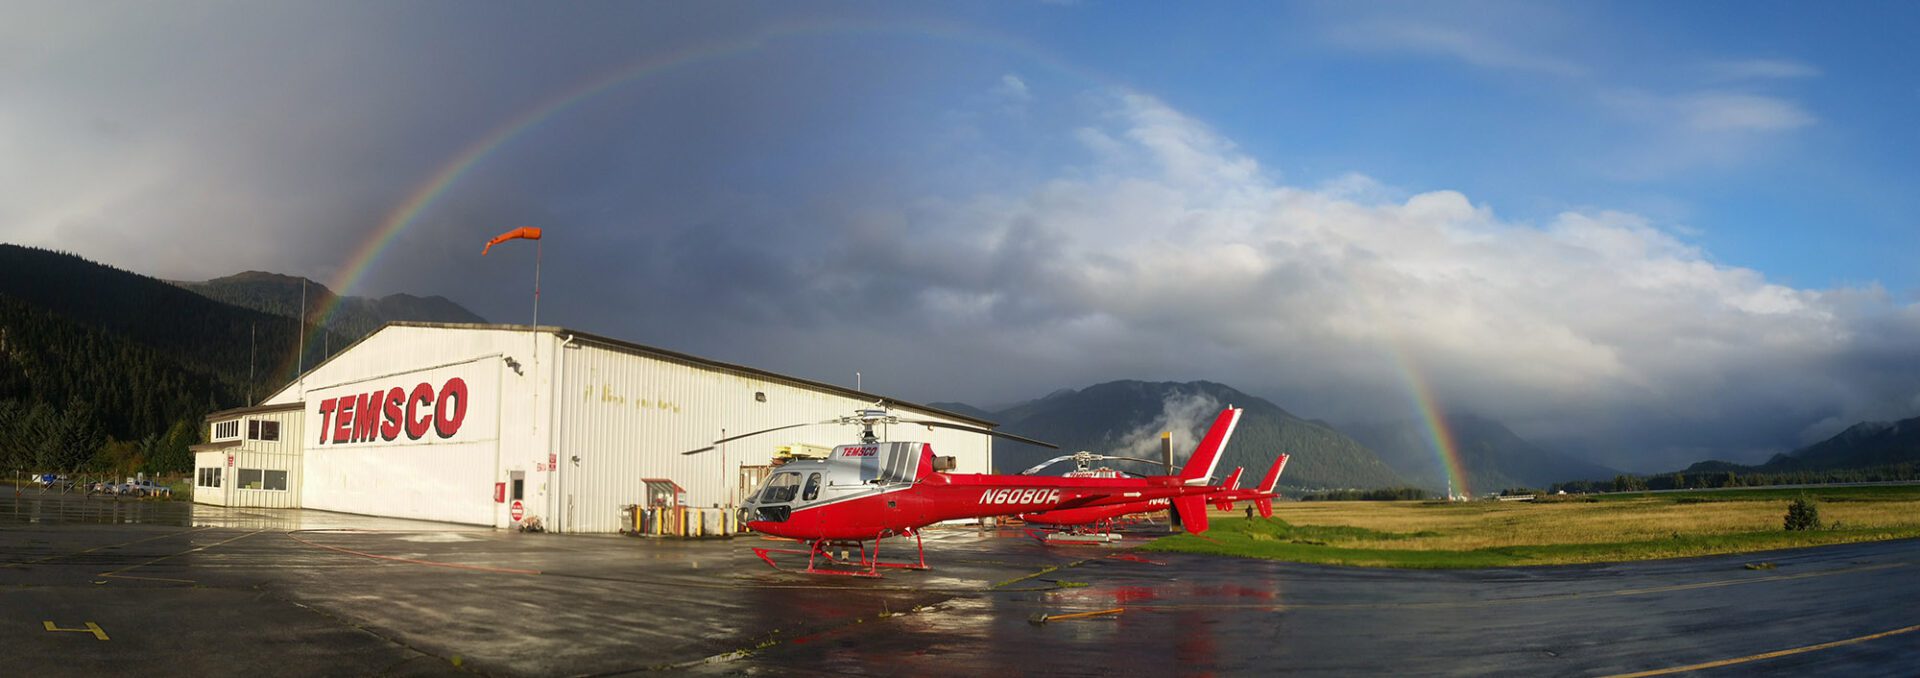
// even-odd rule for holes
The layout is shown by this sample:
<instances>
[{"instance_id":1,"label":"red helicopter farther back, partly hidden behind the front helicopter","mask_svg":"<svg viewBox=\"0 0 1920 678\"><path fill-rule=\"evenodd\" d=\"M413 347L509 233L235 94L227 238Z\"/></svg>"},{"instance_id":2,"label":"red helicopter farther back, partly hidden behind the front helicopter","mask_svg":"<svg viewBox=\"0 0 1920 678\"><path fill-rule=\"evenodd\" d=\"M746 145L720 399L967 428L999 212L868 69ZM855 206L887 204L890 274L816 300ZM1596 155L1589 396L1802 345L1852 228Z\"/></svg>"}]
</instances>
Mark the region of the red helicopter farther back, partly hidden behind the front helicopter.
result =
<instances>
[{"instance_id":1,"label":"red helicopter farther back, partly hidden behind the front helicopter","mask_svg":"<svg viewBox=\"0 0 1920 678\"><path fill-rule=\"evenodd\" d=\"M1092 453L1081 451L1081 453L1075 453L1075 455L1066 455L1066 457L1050 459L1050 461L1046 461L1046 463L1043 463L1039 467L1027 469L1025 472L1035 472L1041 467L1046 467L1046 465L1056 463L1056 461L1066 461L1066 459L1073 459L1079 465L1079 469L1068 472L1069 476L1071 474L1102 474L1102 472L1104 474L1117 474L1119 472L1119 471L1110 471L1110 469L1089 469L1089 463L1096 461L1096 459L1144 461L1144 459L1131 459L1131 457L1102 457L1102 455L1092 455ZM1260 486L1256 486L1254 490L1240 490L1240 471L1242 469L1233 469L1233 474L1229 474L1225 482L1221 482L1219 486L1208 488L1208 494L1204 496L1206 503L1212 503L1215 509L1221 509L1221 511L1233 511L1233 503L1235 501L1252 499L1254 507L1260 509L1261 517L1273 517L1273 499L1279 497L1277 490L1279 490L1279 484L1281 484L1281 472L1284 469L1286 469L1286 455L1283 453L1283 455L1279 455L1279 457L1273 459L1273 467L1267 469L1267 474L1263 478L1260 478ZM1054 511L1021 513L1020 519L1025 521L1025 522L1033 522L1033 524L1066 528L1062 532L1046 532L1046 534L1033 534L1033 532L1029 532L1029 534L1033 534L1035 538L1039 538L1044 544L1106 544L1106 542L1119 540L1119 534L1116 534L1114 528L1117 526L1117 522L1121 519L1125 519L1129 515L1137 515L1137 513L1165 511L1169 507L1171 507L1171 501L1167 501L1167 499L1144 499L1144 501L1110 503L1110 505L1081 507L1081 509L1054 509ZM1183 511L1181 513L1181 522L1187 526L1187 532L1196 532L1198 534L1198 532L1206 532L1206 528L1208 528L1206 511L1200 511L1198 515L1192 515L1192 517Z\"/></svg>"}]
</instances>

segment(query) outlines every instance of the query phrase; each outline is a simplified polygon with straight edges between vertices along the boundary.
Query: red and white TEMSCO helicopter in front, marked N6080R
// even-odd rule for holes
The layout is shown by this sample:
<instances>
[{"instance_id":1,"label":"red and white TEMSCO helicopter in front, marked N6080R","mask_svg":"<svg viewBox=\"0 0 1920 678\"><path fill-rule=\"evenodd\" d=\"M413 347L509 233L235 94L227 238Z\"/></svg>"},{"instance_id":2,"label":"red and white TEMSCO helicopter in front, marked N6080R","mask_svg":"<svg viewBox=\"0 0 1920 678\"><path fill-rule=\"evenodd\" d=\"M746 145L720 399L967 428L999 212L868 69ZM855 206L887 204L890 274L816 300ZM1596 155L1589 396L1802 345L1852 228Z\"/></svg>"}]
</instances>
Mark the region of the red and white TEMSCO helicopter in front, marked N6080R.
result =
<instances>
[{"instance_id":1,"label":"red and white TEMSCO helicopter in front, marked N6080R","mask_svg":"<svg viewBox=\"0 0 1920 678\"><path fill-rule=\"evenodd\" d=\"M808 545L804 551L753 549L755 555L776 569L780 565L768 553L806 553L806 572L860 576L879 576L881 567L927 569L925 547L920 544L920 528L943 521L1169 499L1183 517L1198 517L1198 528L1206 530L1208 494L1219 490L1206 482L1213 474L1219 451L1227 446L1227 438L1233 436L1238 421L1240 409L1227 407L1221 411L1213 419L1213 426L1208 428L1206 438L1200 440L1187 469L1179 474L1069 478L947 472L952 471L952 457L935 457L933 446L922 442L879 442L874 426L906 423L972 430L1046 448L1054 446L943 421L900 419L879 407L862 409L852 417L814 423L856 424L862 430L860 444L833 448L833 453L826 459L799 459L776 469L741 505L741 522L747 522L755 532L783 536ZM774 426L730 436L714 440L714 446L797 426L808 424ZM712 446L687 453L707 449L712 449ZM914 536L916 549L920 551L918 561L881 563L879 542L887 536ZM874 542L872 551L866 549L866 542ZM860 551L856 563L837 559L829 551L829 547L849 545Z\"/></svg>"}]
</instances>

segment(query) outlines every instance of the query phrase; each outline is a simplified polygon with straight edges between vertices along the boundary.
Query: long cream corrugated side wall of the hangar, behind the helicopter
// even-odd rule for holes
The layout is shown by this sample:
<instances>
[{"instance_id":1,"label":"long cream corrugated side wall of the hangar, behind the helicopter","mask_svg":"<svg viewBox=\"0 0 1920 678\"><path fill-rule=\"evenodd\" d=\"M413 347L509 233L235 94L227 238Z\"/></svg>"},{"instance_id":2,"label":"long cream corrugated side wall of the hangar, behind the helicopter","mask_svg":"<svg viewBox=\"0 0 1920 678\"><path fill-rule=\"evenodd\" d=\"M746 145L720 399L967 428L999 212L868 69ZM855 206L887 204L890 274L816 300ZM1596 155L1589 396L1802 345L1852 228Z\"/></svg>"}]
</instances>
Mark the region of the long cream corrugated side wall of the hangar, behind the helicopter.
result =
<instances>
[{"instance_id":1,"label":"long cream corrugated side wall of the hangar, behind the helicopter","mask_svg":"<svg viewBox=\"0 0 1920 678\"><path fill-rule=\"evenodd\" d=\"M643 503L641 478L668 478L687 492L695 507L737 505L737 469L764 465L776 448L789 444L835 446L856 442L854 426L804 426L720 446L701 455L714 438L793 423L851 415L872 401L643 355L620 346L576 344L563 353L557 478L561 501L557 528L564 532L614 532L624 526L620 507ZM756 398L764 394L764 401ZM914 411L902 415L950 421ZM991 438L983 434L893 426L887 440L933 444L939 455L958 457L958 471L985 472Z\"/></svg>"}]
</instances>

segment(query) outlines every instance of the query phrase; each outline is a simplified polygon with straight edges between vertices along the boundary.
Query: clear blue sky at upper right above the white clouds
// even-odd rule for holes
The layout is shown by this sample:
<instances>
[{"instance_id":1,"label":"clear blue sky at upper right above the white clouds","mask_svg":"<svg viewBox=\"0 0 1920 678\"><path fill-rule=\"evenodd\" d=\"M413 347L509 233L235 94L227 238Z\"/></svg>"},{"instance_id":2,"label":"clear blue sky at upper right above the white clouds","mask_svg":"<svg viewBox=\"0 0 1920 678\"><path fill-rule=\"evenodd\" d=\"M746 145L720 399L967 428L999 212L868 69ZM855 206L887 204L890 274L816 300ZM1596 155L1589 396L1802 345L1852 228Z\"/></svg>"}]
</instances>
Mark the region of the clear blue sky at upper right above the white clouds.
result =
<instances>
[{"instance_id":1,"label":"clear blue sky at upper right above the white clouds","mask_svg":"<svg viewBox=\"0 0 1920 678\"><path fill-rule=\"evenodd\" d=\"M1523 221L1634 209L1716 261L1786 282L1920 294L1920 192L1908 188L1920 181L1920 73L1903 46L1920 27L1912 8L1125 10L1043 8L1012 31L1156 92L1296 181L1361 171L1461 190ZM1730 106L1803 119L1713 131L1638 109L1690 96L1751 98Z\"/></svg>"}]
</instances>

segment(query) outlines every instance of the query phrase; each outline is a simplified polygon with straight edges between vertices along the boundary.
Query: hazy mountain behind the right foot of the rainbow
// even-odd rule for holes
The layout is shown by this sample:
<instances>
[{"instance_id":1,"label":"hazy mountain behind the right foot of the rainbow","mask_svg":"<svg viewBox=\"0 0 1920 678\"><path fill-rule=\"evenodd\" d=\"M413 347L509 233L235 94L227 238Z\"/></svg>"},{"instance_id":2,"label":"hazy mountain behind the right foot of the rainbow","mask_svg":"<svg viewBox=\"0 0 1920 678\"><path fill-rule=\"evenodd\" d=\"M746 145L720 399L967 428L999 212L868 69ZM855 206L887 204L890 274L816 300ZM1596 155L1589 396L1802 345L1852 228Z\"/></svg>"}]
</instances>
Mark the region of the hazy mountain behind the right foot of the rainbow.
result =
<instances>
[{"instance_id":1,"label":"hazy mountain behind the right foot of the rainbow","mask_svg":"<svg viewBox=\"0 0 1920 678\"><path fill-rule=\"evenodd\" d=\"M1551 449L1540 449L1505 424L1475 415L1446 417L1446 426L1453 434L1453 446L1465 467L1467 484L1475 494L1498 492L1505 488L1546 488L1567 478L1609 478L1619 471L1574 459ZM1369 449L1380 455L1388 467L1415 482L1415 486L1446 492L1446 474L1434 451L1432 430L1421 421L1400 421L1382 424L1340 426ZM1467 492L1469 488L1455 488Z\"/></svg>"}]
</instances>

